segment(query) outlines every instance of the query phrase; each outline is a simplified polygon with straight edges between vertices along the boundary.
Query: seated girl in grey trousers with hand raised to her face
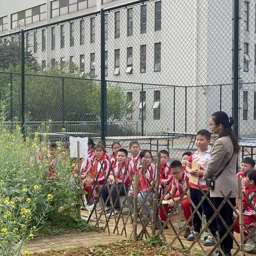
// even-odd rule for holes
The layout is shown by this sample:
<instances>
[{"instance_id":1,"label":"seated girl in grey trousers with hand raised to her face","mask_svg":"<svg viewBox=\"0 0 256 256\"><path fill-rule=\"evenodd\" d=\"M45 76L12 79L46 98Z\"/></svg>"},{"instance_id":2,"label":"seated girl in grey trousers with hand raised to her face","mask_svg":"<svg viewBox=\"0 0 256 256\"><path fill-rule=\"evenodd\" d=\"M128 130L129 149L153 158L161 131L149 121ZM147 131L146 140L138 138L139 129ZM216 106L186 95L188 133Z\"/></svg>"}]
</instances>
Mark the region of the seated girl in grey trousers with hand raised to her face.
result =
<instances>
[{"instance_id":1,"label":"seated girl in grey trousers with hand raised to her face","mask_svg":"<svg viewBox=\"0 0 256 256\"><path fill-rule=\"evenodd\" d=\"M138 143L138 142L137 142ZM155 165L152 163L152 155L149 150L142 150L139 155L141 164L137 168L136 173L138 174L138 204L142 204L151 183L155 180ZM133 183L134 185L134 183ZM152 215L151 204L153 203L154 193L149 193L146 202L141 208L141 217L147 219ZM127 200L128 206L133 213L133 186L129 190L129 196ZM150 215L151 213L151 215Z\"/></svg>"}]
</instances>

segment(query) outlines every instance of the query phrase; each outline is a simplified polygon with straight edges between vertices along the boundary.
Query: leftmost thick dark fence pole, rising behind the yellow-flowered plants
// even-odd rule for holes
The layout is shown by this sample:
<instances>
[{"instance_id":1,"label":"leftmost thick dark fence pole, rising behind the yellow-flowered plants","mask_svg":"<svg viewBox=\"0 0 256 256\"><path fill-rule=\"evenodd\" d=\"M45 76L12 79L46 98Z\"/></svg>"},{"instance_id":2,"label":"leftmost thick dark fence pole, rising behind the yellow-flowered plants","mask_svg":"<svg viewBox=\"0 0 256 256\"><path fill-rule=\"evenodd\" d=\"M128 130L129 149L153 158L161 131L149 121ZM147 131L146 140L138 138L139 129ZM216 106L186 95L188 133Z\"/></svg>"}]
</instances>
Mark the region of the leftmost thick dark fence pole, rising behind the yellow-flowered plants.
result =
<instances>
[{"instance_id":1,"label":"leftmost thick dark fence pole, rising behind the yellow-flowered plants","mask_svg":"<svg viewBox=\"0 0 256 256\"><path fill-rule=\"evenodd\" d=\"M25 135L25 33L21 29L21 132Z\"/></svg>"}]
</instances>

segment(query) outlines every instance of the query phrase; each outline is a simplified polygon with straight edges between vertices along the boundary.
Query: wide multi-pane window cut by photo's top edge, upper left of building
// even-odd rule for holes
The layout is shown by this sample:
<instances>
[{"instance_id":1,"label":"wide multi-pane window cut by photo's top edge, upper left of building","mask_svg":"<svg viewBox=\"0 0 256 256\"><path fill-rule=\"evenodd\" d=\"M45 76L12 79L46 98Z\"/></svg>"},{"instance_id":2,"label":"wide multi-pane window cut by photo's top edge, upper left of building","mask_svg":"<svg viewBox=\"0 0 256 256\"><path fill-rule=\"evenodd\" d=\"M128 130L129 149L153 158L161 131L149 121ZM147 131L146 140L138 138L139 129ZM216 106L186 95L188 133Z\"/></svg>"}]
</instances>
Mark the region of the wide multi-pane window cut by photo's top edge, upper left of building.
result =
<instances>
[{"instance_id":1,"label":"wide multi-pane window cut by photo's top edge, upper left of building","mask_svg":"<svg viewBox=\"0 0 256 256\"><path fill-rule=\"evenodd\" d=\"M51 18L87 8L88 0L55 0L51 2Z\"/></svg>"}]
</instances>

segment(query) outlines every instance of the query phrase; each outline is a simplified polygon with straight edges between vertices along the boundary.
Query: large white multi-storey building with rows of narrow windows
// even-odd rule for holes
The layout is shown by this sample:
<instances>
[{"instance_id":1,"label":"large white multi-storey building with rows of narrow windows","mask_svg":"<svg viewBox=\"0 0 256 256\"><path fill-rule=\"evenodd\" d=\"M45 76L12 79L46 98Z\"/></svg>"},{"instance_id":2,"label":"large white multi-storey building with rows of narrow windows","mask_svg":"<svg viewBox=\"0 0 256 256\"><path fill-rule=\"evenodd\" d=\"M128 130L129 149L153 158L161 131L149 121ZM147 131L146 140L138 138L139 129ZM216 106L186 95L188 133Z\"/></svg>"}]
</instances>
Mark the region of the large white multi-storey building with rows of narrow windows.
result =
<instances>
[{"instance_id":1,"label":"large white multi-storey building with rows of narrow windows","mask_svg":"<svg viewBox=\"0 0 256 256\"><path fill-rule=\"evenodd\" d=\"M2 0L0 35L127 2L132 1ZM134 103L126 121L140 122L144 107L145 134L194 133L207 129L220 108L231 115L232 2L149 1L106 13L106 79L130 83L119 83ZM242 135L255 135L255 3L241 3L241 79L250 83L240 89ZM42 67L66 60L100 77L99 14L30 31L26 38Z\"/></svg>"}]
</instances>

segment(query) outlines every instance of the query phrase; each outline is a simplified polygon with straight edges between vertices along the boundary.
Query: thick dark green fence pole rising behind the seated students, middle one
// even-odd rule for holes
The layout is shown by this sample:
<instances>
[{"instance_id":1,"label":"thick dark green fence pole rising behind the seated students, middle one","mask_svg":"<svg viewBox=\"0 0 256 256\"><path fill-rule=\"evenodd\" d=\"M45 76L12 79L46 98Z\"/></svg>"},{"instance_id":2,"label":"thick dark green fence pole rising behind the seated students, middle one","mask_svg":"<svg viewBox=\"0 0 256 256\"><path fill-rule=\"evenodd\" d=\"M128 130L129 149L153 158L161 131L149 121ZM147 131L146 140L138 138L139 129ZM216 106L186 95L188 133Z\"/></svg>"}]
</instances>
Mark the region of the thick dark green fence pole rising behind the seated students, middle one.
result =
<instances>
[{"instance_id":1,"label":"thick dark green fence pole rising behind the seated students, middle one","mask_svg":"<svg viewBox=\"0 0 256 256\"><path fill-rule=\"evenodd\" d=\"M101 140L105 140L106 130L106 77L105 77L105 12L100 10L100 23L101 23L101 35L100 35L100 81L101 81L101 109L100 109L100 124L101 124Z\"/></svg>"}]
</instances>

